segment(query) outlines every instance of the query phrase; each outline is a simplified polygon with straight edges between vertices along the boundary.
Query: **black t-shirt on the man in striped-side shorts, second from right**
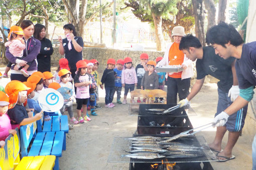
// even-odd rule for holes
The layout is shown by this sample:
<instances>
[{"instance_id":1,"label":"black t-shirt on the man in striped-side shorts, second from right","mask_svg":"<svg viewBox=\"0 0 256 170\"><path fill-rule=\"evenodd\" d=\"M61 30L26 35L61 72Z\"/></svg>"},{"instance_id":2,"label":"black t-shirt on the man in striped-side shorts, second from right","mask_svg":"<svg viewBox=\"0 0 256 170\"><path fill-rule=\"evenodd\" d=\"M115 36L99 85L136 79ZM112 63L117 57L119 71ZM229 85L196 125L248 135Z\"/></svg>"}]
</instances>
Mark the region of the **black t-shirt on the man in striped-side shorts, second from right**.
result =
<instances>
[{"instance_id":1,"label":"black t-shirt on the man in striped-side shorts, second from right","mask_svg":"<svg viewBox=\"0 0 256 170\"><path fill-rule=\"evenodd\" d=\"M234 57L221 58L215 54L212 46L203 47L203 58L196 61L197 79L209 74L219 79L217 84L222 91L228 92L233 84L231 64L234 59Z\"/></svg>"}]
</instances>

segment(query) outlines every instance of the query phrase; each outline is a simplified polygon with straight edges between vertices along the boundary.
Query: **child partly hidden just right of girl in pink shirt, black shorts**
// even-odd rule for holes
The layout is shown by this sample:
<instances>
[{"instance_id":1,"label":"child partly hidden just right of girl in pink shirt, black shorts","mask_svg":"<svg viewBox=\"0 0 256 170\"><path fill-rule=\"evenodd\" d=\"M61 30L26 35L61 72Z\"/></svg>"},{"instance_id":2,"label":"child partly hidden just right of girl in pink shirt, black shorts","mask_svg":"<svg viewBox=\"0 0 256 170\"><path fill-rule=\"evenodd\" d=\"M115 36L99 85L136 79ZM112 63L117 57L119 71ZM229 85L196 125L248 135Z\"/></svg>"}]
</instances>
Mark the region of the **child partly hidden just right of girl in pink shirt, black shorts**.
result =
<instances>
[{"instance_id":1,"label":"child partly hidden just right of girl in pink shirt, black shorts","mask_svg":"<svg viewBox=\"0 0 256 170\"><path fill-rule=\"evenodd\" d=\"M93 77L93 75L91 74L92 72L92 67L93 67L93 63L89 62L87 64L87 73L89 75L89 79L91 79L92 83L90 84L90 87L89 87L89 92L90 92L90 98L88 100L88 104L87 105L90 105L90 109L91 109L91 115L98 115L96 112L95 112L95 106L96 106L96 95L95 95L95 90L96 90L96 87L97 87L97 83ZM88 113L87 113L87 116ZM90 120L89 120L90 121Z\"/></svg>"}]
</instances>

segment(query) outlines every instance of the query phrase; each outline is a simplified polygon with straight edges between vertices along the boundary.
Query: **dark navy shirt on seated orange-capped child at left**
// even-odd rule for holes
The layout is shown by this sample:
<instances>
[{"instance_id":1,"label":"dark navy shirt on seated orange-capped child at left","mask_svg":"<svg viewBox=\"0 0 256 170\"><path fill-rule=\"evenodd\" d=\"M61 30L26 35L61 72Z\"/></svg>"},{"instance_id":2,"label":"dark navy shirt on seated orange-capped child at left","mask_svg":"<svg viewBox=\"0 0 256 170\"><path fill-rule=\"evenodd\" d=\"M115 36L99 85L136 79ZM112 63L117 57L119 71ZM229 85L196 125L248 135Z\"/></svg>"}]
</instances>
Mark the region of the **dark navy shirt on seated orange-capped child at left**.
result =
<instances>
[{"instance_id":1,"label":"dark navy shirt on seated orange-capped child at left","mask_svg":"<svg viewBox=\"0 0 256 170\"><path fill-rule=\"evenodd\" d=\"M23 105L16 104L8 110L11 124L20 124L24 118L29 118L28 112Z\"/></svg>"}]
</instances>

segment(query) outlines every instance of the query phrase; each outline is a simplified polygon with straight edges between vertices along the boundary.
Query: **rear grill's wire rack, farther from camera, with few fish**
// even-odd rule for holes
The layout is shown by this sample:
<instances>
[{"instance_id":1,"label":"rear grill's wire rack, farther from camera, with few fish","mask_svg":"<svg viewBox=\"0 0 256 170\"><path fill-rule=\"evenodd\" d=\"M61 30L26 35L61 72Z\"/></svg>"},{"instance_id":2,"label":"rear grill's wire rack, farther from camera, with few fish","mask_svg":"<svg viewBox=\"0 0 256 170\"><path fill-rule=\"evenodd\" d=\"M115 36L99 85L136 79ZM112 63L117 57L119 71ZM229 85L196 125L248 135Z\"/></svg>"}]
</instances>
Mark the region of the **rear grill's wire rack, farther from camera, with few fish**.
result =
<instances>
[{"instance_id":1,"label":"rear grill's wire rack, farther from camera, with few fish","mask_svg":"<svg viewBox=\"0 0 256 170\"><path fill-rule=\"evenodd\" d=\"M154 113L147 113L147 112L140 112L140 105L145 105L145 106L156 106L156 108L169 108L171 106L174 105L170 105L170 104L139 104L139 103L129 103L129 115L131 116L163 116L161 114L154 114ZM167 106L169 105L169 106ZM152 107L153 108L153 107ZM187 109L186 111L186 115L185 114L180 114L179 112L182 112L182 110L184 110L184 108L178 108L176 110L176 112L172 113L172 114L165 114L164 116L197 116L196 112L194 111L194 109L188 105L185 106L185 109Z\"/></svg>"}]
</instances>

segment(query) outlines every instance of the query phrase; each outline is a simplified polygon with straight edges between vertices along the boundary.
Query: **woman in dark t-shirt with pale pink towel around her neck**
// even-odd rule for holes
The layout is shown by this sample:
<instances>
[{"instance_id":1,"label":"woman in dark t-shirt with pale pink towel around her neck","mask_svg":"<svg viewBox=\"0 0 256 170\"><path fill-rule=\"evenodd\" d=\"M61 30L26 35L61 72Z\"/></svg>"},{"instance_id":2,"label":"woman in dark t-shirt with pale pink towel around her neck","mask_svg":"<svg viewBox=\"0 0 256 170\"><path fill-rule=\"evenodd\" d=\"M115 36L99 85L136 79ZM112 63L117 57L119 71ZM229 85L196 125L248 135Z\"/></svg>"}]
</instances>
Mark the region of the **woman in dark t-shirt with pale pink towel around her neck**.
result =
<instances>
[{"instance_id":1,"label":"woman in dark t-shirt with pale pink towel around her neck","mask_svg":"<svg viewBox=\"0 0 256 170\"><path fill-rule=\"evenodd\" d=\"M76 62L83 58L83 39L81 36L76 36L76 30L73 24L65 24L63 26L65 38L59 36L60 42L59 53L64 55L70 66L71 76L74 79L76 72Z\"/></svg>"}]
</instances>

